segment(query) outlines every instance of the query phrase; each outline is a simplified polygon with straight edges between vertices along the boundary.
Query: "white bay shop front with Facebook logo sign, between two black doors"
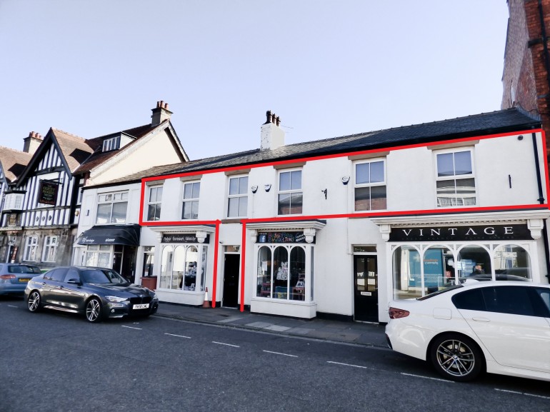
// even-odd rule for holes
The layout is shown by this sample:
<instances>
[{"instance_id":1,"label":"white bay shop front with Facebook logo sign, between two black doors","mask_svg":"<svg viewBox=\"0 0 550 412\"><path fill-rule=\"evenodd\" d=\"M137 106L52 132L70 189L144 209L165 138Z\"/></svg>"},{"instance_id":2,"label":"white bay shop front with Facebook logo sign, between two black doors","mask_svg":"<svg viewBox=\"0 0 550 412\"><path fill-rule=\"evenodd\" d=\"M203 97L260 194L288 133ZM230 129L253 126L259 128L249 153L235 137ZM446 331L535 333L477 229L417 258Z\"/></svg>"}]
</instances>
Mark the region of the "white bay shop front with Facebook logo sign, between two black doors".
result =
<instances>
[{"instance_id":1,"label":"white bay shop front with Facebook logo sign, between two black doors","mask_svg":"<svg viewBox=\"0 0 550 412\"><path fill-rule=\"evenodd\" d=\"M254 275L251 312L314 318L316 231L324 221L251 223Z\"/></svg>"}]
</instances>

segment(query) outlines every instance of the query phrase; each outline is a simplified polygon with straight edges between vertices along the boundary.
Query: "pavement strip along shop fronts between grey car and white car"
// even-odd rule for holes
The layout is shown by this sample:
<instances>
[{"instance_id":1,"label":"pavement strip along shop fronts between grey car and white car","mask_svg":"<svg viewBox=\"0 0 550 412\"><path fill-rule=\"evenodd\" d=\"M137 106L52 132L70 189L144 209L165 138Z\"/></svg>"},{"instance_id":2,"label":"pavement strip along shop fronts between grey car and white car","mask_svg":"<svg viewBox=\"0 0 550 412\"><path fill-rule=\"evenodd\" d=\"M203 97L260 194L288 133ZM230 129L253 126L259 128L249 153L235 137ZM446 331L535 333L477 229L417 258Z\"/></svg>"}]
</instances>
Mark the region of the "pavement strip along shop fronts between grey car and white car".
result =
<instances>
[{"instance_id":1,"label":"pavement strip along shop fronts between grey car and white car","mask_svg":"<svg viewBox=\"0 0 550 412\"><path fill-rule=\"evenodd\" d=\"M203 308L164 302L159 304L156 316L249 331L387 348L385 326L379 323L286 318L249 311L241 312L238 308Z\"/></svg>"}]
</instances>

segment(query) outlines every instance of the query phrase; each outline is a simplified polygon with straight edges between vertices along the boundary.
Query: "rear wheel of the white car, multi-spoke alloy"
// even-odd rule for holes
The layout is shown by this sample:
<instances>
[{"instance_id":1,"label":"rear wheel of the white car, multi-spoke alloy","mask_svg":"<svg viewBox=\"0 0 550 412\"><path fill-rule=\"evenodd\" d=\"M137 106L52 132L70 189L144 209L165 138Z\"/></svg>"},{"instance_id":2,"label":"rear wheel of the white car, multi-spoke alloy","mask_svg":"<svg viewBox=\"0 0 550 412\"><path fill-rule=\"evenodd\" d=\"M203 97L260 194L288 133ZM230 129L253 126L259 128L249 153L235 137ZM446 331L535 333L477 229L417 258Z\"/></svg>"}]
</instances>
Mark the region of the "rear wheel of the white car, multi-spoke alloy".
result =
<instances>
[{"instance_id":1,"label":"rear wheel of the white car, multi-spoke alloy","mask_svg":"<svg viewBox=\"0 0 550 412\"><path fill-rule=\"evenodd\" d=\"M452 381L471 381L484 371L485 361L479 346L458 333L437 337L431 344L430 358L436 371Z\"/></svg>"}]
</instances>

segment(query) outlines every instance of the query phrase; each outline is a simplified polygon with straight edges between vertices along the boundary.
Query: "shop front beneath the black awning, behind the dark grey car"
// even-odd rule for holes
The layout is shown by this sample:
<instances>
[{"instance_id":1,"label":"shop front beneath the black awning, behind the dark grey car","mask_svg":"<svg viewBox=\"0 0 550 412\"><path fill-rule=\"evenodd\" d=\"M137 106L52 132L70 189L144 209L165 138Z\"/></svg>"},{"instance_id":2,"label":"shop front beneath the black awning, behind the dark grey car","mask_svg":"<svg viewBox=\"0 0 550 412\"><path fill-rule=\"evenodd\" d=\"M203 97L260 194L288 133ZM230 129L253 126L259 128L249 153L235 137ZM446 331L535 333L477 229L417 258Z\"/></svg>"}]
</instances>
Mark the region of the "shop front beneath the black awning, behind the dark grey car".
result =
<instances>
[{"instance_id":1,"label":"shop front beneath the black awning, behind the dark grey car","mask_svg":"<svg viewBox=\"0 0 550 412\"><path fill-rule=\"evenodd\" d=\"M93 226L76 239L78 245L84 246L76 263L112 268L133 283L140 234L137 224Z\"/></svg>"}]
</instances>

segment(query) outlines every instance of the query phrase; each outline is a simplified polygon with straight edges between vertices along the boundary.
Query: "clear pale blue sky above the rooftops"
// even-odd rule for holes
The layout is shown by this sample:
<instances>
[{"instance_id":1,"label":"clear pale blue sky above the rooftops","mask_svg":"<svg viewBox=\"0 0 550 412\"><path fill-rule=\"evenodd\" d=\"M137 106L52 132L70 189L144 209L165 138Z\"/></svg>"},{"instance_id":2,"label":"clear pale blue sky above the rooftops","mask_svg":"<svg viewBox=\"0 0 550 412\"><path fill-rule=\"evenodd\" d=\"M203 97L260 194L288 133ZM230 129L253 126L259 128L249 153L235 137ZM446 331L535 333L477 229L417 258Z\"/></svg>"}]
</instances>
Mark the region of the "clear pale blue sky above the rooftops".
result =
<instances>
[{"instance_id":1,"label":"clear pale blue sky above the rooftops","mask_svg":"<svg viewBox=\"0 0 550 412\"><path fill-rule=\"evenodd\" d=\"M168 102L191 159L500 109L506 0L0 0L0 146Z\"/></svg>"}]
</instances>

